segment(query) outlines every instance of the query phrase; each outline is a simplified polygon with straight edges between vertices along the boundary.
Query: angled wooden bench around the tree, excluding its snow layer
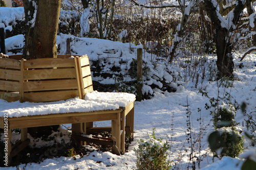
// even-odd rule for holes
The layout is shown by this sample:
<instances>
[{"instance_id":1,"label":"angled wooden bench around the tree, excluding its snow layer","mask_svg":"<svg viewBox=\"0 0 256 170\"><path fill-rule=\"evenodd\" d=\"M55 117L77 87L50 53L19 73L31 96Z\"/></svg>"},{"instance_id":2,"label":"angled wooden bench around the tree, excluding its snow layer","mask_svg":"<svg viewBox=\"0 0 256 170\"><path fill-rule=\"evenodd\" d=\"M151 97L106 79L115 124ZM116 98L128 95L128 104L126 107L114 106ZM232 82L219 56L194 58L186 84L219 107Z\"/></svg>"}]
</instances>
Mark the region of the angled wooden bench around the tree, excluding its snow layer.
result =
<instances>
[{"instance_id":1,"label":"angled wooden bench around the tree, excluding its snow layer","mask_svg":"<svg viewBox=\"0 0 256 170\"><path fill-rule=\"evenodd\" d=\"M56 59L17 60L20 57L0 59L0 99L9 102L18 100L20 102L52 102L78 97L84 100L84 95L93 92L88 56L65 55ZM125 135L133 139L134 101L135 97L117 109L104 110L102 107L102 110L58 112L46 115L8 116L6 114L8 109L0 110L0 128L4 129L6 135L4 138L8 141L9 160L30 143L27 128L60 124L72 124L72 140L81 145L84 144L83 141L88 140L82 134L93 131L112 131L112 140L105 143L112 143L117 147L118 151L115 154L124 153ZM108 100L104 102L108 103ZM93 122L103 120L111 120L112 127L93 127ZM13 145L11 131L16 128L21 129L21 139ZM98 141L102 142L102 140Z\"/></svg>"}]
</instances>

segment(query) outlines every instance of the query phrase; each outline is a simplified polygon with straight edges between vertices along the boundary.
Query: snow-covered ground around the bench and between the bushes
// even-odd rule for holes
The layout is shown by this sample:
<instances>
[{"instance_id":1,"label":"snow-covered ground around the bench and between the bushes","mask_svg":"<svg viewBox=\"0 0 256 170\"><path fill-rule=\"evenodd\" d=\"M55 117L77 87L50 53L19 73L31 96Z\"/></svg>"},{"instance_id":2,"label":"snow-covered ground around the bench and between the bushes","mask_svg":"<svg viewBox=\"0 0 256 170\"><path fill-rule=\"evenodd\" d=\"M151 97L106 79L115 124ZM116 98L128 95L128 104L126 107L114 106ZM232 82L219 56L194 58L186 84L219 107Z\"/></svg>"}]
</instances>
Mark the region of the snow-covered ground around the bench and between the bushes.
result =
<instances>
[{"instance_id":1,"label":"snow-covered ground around the bench and between the bushes","mask_svg":"<svg viewBox=\"0 0 256 170\"><path fill-rule=\"evenodd\" d=\"M16 42L18 41L23 41L22 36L17 38ZM105 41L106 40L104 40L104 42ZM111 46L116 46L117 43L108 41L108 43L104 44L108 44L111 48ZM74 47L80 49L77 51L85 53L82 51L82 46L79 46L79 43L77 43L77 46ZM96 45L95 50L91 50L99 51ZM242 68L238 67L240 64L239 55L241 56L242 54L235 55L234 61L236 62L237 66L235 68L234 75L241 81L234 81L231 91L230 88L218 88L217 82L206 82L197 88L195 88L193 83L188 82L184 84L185 88L178 88L176 92L160 93L157 92L159 91L157 90L154 92L154 97L151 100L136 102L134 123L135 140L130 144L129 152L125 153L124 155L117 156L110 152L93 151L84 157L75 156L76 159L73 157L52 158L46 159L41 163L21 164L18 168L31 170L133 169L136 168L136 154L134 148L138 147L137 140L140 138L147 138L147 134L151 134L153 128L156 128L156 137L163 138L164 141L168 141L168 143L171 145L171 148L168 151L168 158L170 161L173 161L172 168L191 169L187 167L191 166L189 157L191 151L193 150L193 154L195 154L194 156L197 156L201 160L200 167L199 162L197 161L197 169L240 169L243 160L239 158L223 157L222 160L215 158L214 162L212 161L212 154L208 148L207 136L214 130L214 128L212 127L212 116L210 115L210 111L204 108L205 104L209 103L209 99L199 93L199 90L203 89L208 92L208 96L210 98L217 98L218 90L220 96L223 96L225 92L230 92L232 96L231 101L236 101L238 105L242 104L242 102L247 104L247 113L256 111L256 55L247 55L242 62L244 65ZM94 58L95 56L92 57ZM29 105L29 103L27 104ZM11 105L11 103L9 105ZM13 103L13 105L15 105L15 103ZM31 106L33 105L34 104L31 104ZM196 141L193 147L191 147L190 141L188 142L187 140L187 121L189 120L189 117L187 117L188 108L191 112L189 117L191 130L193 131L192 141ZM3 108L1 108L1 111L3 111L2 109ZM199 109L201 111L199 111ZM246 131L246 128L244 127L244 118L247 117L245 117L239 109L236 115L236 120L240 123L239 127L243 130L243 135ZM67 125L67 127L68 126L70 125ZM96 122L95 126L110 126L110 122ZM63 132L63 130L61 132ZM17 137L17 134L13 134L13 140L15 140ZM245 150L255 150L255 148L250 147L249 143L250 142L246 141L245 138L245 147L248 147ZM41 140L37 142L37 145L42 144L44 143ZM1 169L16 169L16 167L1 167Z\"/></svg>"}]
</instances>

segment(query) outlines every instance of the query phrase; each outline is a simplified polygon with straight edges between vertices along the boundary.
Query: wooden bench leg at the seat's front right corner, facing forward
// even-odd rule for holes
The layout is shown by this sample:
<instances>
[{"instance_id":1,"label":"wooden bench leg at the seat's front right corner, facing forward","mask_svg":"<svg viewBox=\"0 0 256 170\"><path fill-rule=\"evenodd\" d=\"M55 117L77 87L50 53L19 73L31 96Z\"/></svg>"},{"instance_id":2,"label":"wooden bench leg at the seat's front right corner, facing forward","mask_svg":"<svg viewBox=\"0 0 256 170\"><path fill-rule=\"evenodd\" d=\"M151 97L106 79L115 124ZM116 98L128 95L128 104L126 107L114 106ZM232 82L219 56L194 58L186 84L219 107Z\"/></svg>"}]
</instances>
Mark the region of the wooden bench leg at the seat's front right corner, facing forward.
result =
<instances>
[{"instance_id":1,"label":"wooden bench leg at the seat's front right corner, facing forward","mask_svg":"<svg viewBox=\"0 0 256 170\"><path fill-rule=\"evenodd\" d=\"M120 113L117 113L117 119L112 120L112 140L116 142L116 147L118 151L114 154L120 155L121 153L121 141L120 141ZM115 146L114 146L115 147ZM112 152L113 148L112 148Z\"/></svg>"}]
</instances>

